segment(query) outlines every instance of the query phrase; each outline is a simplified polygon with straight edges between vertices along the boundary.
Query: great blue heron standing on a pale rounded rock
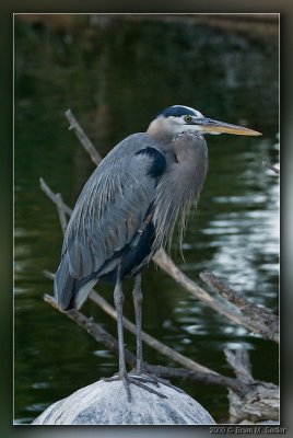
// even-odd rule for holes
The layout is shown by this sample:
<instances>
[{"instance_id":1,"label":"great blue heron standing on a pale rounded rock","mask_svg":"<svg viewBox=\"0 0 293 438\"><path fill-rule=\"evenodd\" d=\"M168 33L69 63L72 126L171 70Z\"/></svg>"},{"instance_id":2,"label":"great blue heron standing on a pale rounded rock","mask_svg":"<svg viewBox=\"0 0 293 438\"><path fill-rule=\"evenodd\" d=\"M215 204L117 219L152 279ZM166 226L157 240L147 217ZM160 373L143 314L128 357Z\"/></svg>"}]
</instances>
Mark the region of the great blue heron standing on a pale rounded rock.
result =
<instances>
[{"instance_id":1,"label":"great blue heron standing on a pale rounded rock","mask_svg":"<svg viewBox=\"0 0 293 438\"><path fill-rule=\"evenodd\" d=\"M198 199L207 173L203 135L221 132L260 135L203 117L188 106L164 110L146 132L127 137L106 155L86 182L70 218L55 278L55 296L62 310L80 309L99 279L115 284L119 372L107 380L121 379L128 400L129 383L162 395L144 384L157 380L143 370L141 269L169 242L177 219L183 230L186 214ZM121 281L126 277L134 277L134 373L127 373L125 362Z\"/></svg>"}]
</instances>

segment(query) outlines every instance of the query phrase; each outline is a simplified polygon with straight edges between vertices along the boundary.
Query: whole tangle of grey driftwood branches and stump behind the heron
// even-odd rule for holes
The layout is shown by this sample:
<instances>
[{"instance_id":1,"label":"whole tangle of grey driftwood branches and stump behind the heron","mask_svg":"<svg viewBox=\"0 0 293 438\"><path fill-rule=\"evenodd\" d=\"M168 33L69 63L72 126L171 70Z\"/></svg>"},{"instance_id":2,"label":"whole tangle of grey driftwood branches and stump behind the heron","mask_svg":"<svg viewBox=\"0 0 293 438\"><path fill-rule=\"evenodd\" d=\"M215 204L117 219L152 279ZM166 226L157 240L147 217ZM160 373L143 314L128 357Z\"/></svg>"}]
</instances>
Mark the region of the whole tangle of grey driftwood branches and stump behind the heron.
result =
<instances>
[{"instance_id":1,"label":"whole tangle of grey driftwood branches and stump behind the heron","mask_svg":"<svg viewBox=\"0 0 293 438\"><path fill-rule=\"evenodd\" d=\"M81 145L90 154L91 160L98 165L102 158L84 134L72 112L68 110L66 116L69 120L70 129L74 130ZM274 169L272 170L276 171ZM40 188L56 205L61 229L65 232L68 217L70 217L72 212L71 208L63 203L59 193L55 194L50 189L43 178L40 178ZM204 302L204 304L230 319L233 323L257 333L263 338L279 343L279 318L272 314L270 310L246 300L238 292L219 280L219 278L216 278L212 273L201 273L201 279L209 287L219 292L219 296L212 296L187 277L163 250L160 250L155 254L153 261L179 285L185 287L196 299ZM44 274L48 278L54 278L54 274L51 273L44 272ZM46 295L44 299L58 309L52 297ZM115 309L94 290L91 291L90 299L98 304L112 318L116 318ZM93 319L89 319L81 312L73 310L63 312L63 314L77 322L81 327L85 328L95 339L104 343L107 348L115 353L118 351L117 341L96 324ZM134 333L134 324L126 318L124 319L124 325L126 330ZM178 354L146 333L142 334L142 339L151 347L157 349L161 354L184 366L184 368L172 368L145 364L148 371L159 377L189 379L192 381L201 381L227 388L231 415L230 420L232 423L257 423L261 420L276 420L279 418L279 389L272 383L255 381L253 379L247 351L239 353L237 350L235 355L230 350L224 351L228 364L236 373L236 379L232 379L221 376L218 372ZM134 366L136 358L129 350L126 350L126 360L131 367Z\"/></svg>"}]
</instances>

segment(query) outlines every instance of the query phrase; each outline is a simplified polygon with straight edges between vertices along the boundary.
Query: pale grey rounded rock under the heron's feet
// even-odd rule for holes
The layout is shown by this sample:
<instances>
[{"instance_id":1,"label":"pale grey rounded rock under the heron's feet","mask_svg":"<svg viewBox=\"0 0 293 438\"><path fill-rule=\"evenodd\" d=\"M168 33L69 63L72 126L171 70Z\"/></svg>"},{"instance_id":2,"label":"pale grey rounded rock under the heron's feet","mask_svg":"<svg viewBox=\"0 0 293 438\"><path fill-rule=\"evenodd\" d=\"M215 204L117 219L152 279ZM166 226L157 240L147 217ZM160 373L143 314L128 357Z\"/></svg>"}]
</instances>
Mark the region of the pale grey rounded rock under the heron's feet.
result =
<instances>
[{"instance_id":1,"label":"pale grey rounded rock under the heron's feet","mask_svg":"<svg viewBox=\"0 0 293 438\"><path fill-rule=\"evenodd\" d=\"M153 387L151 383L145 383ZM35 425L211 425L210 414L185 392L160 384L162 399L130 384L128 402L121 381L99 380L54 403Z\"/></svg>"}]
</instances>

